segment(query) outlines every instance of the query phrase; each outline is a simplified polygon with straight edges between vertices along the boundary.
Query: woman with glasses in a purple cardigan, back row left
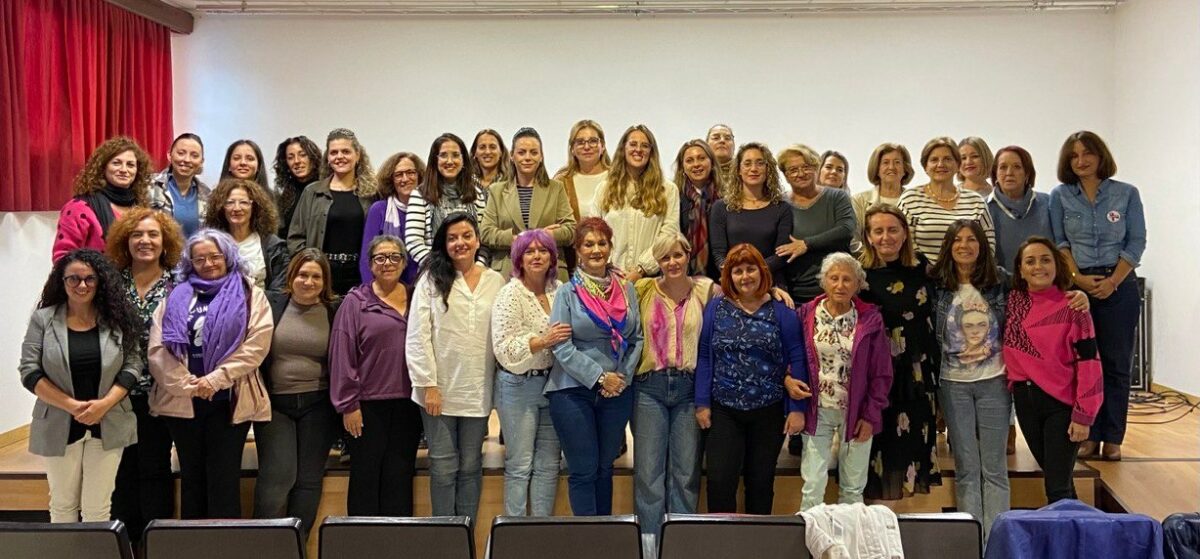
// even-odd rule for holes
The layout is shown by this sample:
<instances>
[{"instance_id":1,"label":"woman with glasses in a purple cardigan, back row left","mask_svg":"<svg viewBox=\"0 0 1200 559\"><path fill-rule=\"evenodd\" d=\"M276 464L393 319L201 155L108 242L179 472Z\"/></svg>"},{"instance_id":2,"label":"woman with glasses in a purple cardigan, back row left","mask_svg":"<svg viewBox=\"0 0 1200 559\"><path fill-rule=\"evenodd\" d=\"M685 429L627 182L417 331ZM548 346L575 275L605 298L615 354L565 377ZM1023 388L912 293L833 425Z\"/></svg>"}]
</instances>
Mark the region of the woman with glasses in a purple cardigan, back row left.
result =
<instances>
[{"instance_id":1,"label":"woman with glasses in a purple cardigan, back row left","mask_svg":"<svg viewBox=\"0 0 1200 559\"><path fill-rule=\"evenodd\" d=\"M379 235L404 236L404 220L408 217L408 199L416 185L425 180L425 162L416 154L401 151L384 160L376 175L379 202L367 210L367 224L362 229L362 250L359 252L359 275L362 283L371 283L371 245ZM404 260L400 282L412 287L416 283L416 260Z\"/></svg>"}]
</instances>

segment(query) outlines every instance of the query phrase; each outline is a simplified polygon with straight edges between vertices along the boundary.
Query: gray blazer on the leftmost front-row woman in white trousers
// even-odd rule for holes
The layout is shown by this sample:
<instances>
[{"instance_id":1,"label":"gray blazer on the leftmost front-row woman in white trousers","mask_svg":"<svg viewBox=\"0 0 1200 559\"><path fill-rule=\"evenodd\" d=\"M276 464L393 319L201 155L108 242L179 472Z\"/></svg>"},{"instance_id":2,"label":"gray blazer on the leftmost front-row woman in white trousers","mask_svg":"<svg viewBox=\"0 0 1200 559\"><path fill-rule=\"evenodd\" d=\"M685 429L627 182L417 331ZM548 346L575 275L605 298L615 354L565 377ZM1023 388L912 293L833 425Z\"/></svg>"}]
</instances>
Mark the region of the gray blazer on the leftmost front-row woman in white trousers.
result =
<instances>
[{"instance_id":1,"label":"gray blazer on the leftmost front-row woman in white trousers","mask_svg":"<svg viewBox=\"0 0 1200 559\"><path fill-rule=\"evenodd\" d=\"M38 308L29 318L29 330L20 344L20 378L38 372L67 395L74 395L71 384L70 350L67 349L67 307ZM121 332L100 325L100 396L103 397L116 381L116 374L127 372L142 377L139 351L125 351ZM24 383L23 383L24 384ZM130 398L122 399L100 420L104 450L122 449L138 441L138 420ZM34 420L29 425L29 451L38 456L64 456L71 432L71 414L41 398L34 404Z\"/></svg>"}]
</instances>

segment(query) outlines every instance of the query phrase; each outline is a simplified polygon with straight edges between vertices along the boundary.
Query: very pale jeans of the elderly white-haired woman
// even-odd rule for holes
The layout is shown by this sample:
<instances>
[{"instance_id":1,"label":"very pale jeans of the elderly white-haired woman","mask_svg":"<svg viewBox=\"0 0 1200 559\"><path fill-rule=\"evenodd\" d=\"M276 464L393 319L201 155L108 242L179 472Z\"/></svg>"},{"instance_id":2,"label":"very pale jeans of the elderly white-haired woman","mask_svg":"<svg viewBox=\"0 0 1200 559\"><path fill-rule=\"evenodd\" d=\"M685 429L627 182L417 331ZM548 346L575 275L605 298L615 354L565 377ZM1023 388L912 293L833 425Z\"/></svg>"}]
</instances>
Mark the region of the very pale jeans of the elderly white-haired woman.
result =
<instances>
[{"instance_id":1,"label":"very pale jeans of the elderly white-haired woman","mask_svg":"<svg viewBox=\"0 0 1200 559\"><path fill-rule=\"evenodd\" d=\"M814 402L815 403L815 402ZM866 469L871 462L871 441L846 443L846 410L817 408L816 433L804 435L804 459L800 476L804 489L800 510L809 510L824 503L826 485L829 483L829 461L833 459L833 441L841 441L838 450L838 503L862 503L866 488ZM853 433L851 433L853 434Z\"/></svg>"}]
</instances>

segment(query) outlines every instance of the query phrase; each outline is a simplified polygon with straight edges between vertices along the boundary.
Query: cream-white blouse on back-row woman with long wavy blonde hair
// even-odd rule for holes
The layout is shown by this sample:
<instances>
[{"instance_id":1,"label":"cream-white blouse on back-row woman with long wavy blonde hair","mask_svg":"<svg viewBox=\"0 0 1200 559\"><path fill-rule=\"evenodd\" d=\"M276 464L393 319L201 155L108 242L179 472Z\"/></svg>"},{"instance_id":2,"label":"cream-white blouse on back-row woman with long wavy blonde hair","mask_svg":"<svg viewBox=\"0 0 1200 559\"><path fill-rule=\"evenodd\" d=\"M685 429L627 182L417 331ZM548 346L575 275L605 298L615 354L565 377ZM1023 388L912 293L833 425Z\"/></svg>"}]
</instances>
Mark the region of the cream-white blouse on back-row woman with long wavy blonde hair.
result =
<instances>
[{"instance_id":1,"label":"cream-white blouse on back-row woman with long wavy blonde hair","mask_svg":"<svg viewBox=\"0 0 1200 559\"><path fill-rule=\"evenodd\" d=\"M679 233L679 188L668 180L662 181L662 188L666 191L667 210L661 216L647 216L629 204L635 194L632 185L625 188L624 208L613 208L601 214L600 202L608 190L607 180L596 188L590 209L584 211L586 215L600 216L608 222L608 227L612 228L611 260L623 271L632 271L641 266L649 274L656 272L659 263L654 259L654 241Z\"/></svg>"}]
</instances>

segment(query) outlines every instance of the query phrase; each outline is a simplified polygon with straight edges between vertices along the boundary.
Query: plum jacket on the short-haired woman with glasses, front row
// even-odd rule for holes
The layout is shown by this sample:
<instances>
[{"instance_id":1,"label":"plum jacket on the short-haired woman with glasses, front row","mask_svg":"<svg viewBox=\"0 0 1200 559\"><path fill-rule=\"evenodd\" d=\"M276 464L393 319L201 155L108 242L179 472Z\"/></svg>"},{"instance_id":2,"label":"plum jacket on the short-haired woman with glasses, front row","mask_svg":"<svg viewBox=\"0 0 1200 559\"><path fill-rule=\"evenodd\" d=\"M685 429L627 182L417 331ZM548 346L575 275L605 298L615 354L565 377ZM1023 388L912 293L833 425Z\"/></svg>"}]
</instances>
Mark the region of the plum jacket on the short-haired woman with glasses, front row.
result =
<instances>
[{"instance_id":1,"label":"plum jacket on the short-haired woman with glasses, front row","mask_svg":"<svg viewBox=\"0 0 1200 559\"><path fill-rule=\"evenodd\" d=\"M338 413L360 401L410 398L404 361L408 317L383 302L366 283L350 289L329 338L329 396Z\"/></svg>"}]
</instances>

